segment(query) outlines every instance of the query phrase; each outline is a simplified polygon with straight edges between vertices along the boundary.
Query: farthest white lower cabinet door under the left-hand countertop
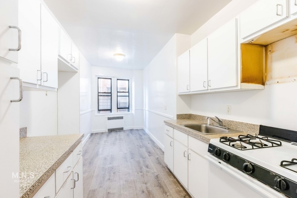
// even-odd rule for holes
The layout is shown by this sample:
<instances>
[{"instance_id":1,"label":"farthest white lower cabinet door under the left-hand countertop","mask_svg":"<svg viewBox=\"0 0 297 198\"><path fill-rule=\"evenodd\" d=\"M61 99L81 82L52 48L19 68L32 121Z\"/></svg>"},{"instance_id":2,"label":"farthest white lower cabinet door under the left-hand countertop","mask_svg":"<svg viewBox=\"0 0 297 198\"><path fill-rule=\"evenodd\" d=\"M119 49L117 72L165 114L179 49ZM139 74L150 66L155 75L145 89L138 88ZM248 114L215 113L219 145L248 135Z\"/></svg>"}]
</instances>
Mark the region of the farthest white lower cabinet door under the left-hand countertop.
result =
<instances>
[{"instance_id":1,"label":"farthest white lower cabinet door under the left-hand countertop","mask_svg":"<svg viewBox=\"0 0 297 198\"><path fill-rule=\"evenodd\" d=\"M73 179L75 188L73 189L74 198L83 198L83 158L81 157L78 164L73 170Z\"/></svg>"}]
</instances>

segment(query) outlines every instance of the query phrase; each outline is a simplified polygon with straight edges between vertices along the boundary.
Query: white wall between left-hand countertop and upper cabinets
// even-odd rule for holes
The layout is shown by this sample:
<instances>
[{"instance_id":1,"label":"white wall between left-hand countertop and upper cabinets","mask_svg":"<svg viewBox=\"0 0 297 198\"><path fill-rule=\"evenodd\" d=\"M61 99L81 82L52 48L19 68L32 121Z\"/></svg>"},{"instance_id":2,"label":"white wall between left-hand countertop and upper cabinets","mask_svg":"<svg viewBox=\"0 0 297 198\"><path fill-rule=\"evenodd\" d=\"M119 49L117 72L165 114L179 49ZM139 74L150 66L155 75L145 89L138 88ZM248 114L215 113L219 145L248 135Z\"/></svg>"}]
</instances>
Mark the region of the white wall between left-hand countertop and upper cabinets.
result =
<instances>
[{"instance_id":1,"label":"white wall between left-hand countertop and upper cabinets","mask_svg":"<svg viewBox=\"0 0 297 198\"><path fill-rule=\"evenodd\" d=\"M27 136L56 135L57 92L24 91L20 102L20 128L27 127Z\"/></svg>"}]
</instances>

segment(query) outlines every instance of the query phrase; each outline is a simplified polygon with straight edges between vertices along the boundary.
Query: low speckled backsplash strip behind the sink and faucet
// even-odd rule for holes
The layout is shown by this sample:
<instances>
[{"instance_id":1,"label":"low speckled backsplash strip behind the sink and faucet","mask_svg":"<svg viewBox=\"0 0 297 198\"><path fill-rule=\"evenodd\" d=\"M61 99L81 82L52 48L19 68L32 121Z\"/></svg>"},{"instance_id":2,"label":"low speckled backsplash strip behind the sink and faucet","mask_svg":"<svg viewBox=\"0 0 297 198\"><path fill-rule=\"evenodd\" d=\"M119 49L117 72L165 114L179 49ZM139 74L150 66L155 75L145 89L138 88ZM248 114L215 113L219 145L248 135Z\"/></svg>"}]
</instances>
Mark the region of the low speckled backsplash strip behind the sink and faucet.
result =
<instances>
[{"instance_id":1,"label":"low speckled backsplash strip behind the sink and faucet","mask_svg":"<svg viewBox=\"0 0 297 198\"><path fill-rule=\"evenodd\" d=\"M190 119L190 120L197 120L205 123L207 123L207 117L210 117L210 116L196 115L191 113L176 114L176 119ZM214 117L210 117L210 118L213 118L214 120L217 119ZM260 125L258 124L251 124L251 123L226 120L226 119L222 119L222 121L224 126L227 126L231 129L236 129L236 130L251 133L251 134L259 134ZM210 123L217 124L212 120L210 121Z\"/></svg>"}]
</instances>

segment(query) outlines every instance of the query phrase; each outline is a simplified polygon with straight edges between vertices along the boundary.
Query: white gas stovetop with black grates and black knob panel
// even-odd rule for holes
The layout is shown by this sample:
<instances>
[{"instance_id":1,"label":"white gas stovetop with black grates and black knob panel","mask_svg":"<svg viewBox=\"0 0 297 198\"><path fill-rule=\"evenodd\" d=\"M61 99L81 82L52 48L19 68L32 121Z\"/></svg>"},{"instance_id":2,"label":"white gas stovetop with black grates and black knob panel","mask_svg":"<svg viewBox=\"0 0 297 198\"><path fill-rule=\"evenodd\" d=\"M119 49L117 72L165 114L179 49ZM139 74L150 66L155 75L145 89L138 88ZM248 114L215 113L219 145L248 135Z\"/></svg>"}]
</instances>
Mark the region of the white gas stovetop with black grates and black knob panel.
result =
<instances>
[{"instance_id":1,"label":"white gas stovetop with black grates and black knob panel","mask_svg":"<svg viewBox=\"0 0 297 198\"><path fill-rule=\"evenodd\" d=\"M287 197L296 198L297 143L259 134L211 139L208 152Z\"/></svg>"}]
</instances>

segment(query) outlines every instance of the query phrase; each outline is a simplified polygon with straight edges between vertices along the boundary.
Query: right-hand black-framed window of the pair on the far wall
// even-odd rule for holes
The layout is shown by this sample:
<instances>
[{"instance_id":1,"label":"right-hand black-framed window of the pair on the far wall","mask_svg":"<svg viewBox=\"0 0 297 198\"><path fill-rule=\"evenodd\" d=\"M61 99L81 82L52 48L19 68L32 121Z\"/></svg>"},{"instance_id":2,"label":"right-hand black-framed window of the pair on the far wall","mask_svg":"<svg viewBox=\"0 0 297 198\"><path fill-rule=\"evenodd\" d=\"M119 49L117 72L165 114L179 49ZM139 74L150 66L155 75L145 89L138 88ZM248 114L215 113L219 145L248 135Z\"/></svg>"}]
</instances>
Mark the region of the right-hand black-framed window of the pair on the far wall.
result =
<instances>
[{"instance_id":1,"label":"right-hand black-framed window of the pair on the far wall","mask_svg":"<svg viewBox=\"0 0 297 198\"><path fill-rule=\"evenodd\" d=\"M117 79L117 112L129 112L129 80Z\"/></svg>"}]
</instances>

